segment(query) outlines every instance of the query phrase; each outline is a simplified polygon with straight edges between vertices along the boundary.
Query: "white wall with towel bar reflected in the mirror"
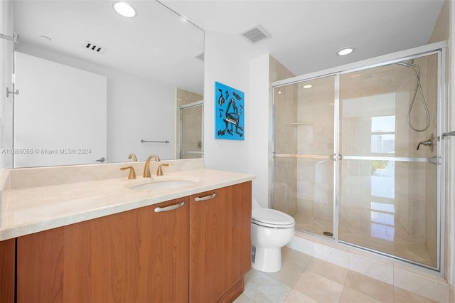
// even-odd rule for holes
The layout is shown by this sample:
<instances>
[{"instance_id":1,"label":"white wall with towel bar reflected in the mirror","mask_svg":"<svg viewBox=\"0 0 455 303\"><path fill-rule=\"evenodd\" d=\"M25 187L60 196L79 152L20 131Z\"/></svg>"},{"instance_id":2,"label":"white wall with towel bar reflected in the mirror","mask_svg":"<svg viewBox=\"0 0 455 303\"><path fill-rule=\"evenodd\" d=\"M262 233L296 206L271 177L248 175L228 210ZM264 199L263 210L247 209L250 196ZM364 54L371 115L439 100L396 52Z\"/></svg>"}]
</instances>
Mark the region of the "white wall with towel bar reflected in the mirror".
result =
<instances>
[{"instance_id":1,"label":"white wall with towel bar reflected in the mirror","mask_svg":"<svg viewBox=\"0 0 455 303\"><path fill-rule=\"evenodd\" d=\"M150 154L174 159L176 87L155 83L21 43L16 50L107 76L107 161L144 161ZM19 89L20 90L20 89ZM140 140L166 141L140 143Z\"/></svg>"}]
</instances>

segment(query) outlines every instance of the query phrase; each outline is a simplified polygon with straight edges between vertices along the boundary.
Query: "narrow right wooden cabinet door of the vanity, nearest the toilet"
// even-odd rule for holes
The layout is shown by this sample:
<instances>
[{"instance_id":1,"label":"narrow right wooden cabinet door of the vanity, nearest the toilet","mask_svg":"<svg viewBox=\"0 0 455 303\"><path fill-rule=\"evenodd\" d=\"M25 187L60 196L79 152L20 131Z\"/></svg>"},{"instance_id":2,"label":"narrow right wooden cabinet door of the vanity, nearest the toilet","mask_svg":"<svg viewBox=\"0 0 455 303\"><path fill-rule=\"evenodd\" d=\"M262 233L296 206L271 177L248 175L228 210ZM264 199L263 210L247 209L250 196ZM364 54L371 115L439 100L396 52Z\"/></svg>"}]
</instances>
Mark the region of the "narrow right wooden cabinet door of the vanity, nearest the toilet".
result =
<instances>
[{"instance_id":1,"label":"narrow right wooden cabinet door of the vanity, nearest the toilet","mask_svg":"<svg viewBox=\"0 0 455 303\"><path fill-rule=\"evenodd\" d=\"M251 182L190 203L190 302L232 302L251 267Z\"/></svg>"}]
</instances>

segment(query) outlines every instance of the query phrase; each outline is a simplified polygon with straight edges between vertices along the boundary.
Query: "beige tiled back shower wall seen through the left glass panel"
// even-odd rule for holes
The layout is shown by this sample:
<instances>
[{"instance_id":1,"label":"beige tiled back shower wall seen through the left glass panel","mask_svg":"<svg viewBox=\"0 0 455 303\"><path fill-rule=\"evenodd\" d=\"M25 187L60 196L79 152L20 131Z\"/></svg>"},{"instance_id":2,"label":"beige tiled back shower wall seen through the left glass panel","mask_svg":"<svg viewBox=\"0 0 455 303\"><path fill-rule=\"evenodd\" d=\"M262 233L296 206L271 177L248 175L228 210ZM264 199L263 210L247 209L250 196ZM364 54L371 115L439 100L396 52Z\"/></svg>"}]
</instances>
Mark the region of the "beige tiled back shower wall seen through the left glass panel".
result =
<instances>
[{"instance_id":1,"label":"beige tiled back shower wall seen through the left glass panel","mask_svg":"<svg viewBox=\"0 0 455 303\"><path fill-rule=\"evenodd\" d=\"M304 88L304 85L312 87ZM297 87L297 153L330 156L333 154L334 78L307 80ZM333 160L299 159L297 181L297 212L304 218L332 223Z\"/></svg>"}]
</instances>

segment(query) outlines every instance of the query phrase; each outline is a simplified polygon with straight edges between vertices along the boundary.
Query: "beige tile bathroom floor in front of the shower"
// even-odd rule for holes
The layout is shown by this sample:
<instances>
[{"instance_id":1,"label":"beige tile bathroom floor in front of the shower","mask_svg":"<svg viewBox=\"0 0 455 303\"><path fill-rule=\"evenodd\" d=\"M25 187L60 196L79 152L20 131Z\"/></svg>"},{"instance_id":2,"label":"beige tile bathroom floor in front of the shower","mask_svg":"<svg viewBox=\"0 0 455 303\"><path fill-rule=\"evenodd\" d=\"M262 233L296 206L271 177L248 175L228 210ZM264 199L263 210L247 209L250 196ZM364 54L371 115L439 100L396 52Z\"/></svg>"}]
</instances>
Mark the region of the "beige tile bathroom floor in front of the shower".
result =
<instances>
[{"instance_id":1,"label":"beige tile bathroom floor in front of the shower","mask_svg":"<svg viewBox=\"0 0 455 303\"><path fill-rule=\"evenodd\" d=\"M279 272L247 273L245 292L234 303L434 302L290 248L282 254Z\"/></svg>"}]
</instances>

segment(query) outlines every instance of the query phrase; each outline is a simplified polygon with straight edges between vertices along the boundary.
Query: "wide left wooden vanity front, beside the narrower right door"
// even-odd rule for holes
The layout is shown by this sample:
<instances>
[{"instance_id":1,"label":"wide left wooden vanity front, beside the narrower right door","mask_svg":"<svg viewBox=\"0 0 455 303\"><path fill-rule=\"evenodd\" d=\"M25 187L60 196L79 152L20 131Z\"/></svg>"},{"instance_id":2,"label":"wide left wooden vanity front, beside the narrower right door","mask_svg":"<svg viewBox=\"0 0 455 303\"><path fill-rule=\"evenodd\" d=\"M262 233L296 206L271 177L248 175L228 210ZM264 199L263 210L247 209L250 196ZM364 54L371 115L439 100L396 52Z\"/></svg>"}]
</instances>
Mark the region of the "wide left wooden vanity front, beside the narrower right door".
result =
<instances>
[{"instance_id":1,"label":"wide left wooden vanity front, beside the narrower right door","mask_svg":"<svg viewBox=\"0 0 455 303\"><path fill-rule=\"evenodd\" d=\"M181 198L18 238L17 302L187 302L188 215Z\"/></svg>"}]
</instances>

